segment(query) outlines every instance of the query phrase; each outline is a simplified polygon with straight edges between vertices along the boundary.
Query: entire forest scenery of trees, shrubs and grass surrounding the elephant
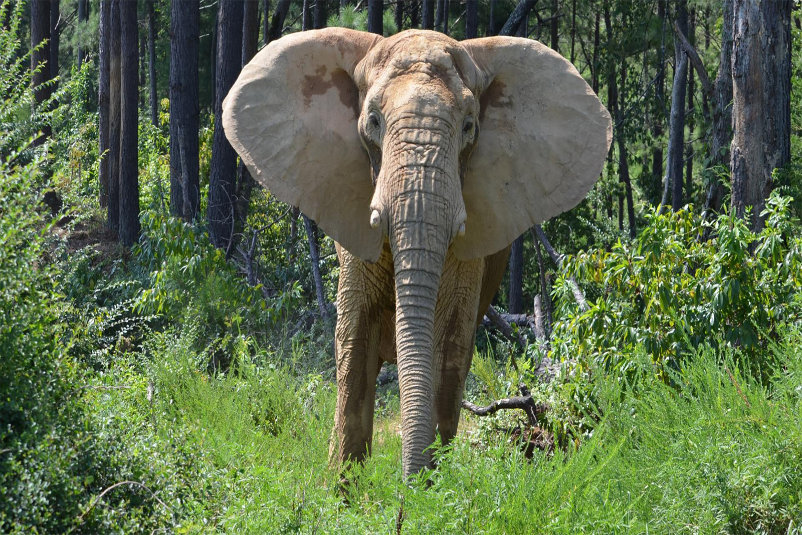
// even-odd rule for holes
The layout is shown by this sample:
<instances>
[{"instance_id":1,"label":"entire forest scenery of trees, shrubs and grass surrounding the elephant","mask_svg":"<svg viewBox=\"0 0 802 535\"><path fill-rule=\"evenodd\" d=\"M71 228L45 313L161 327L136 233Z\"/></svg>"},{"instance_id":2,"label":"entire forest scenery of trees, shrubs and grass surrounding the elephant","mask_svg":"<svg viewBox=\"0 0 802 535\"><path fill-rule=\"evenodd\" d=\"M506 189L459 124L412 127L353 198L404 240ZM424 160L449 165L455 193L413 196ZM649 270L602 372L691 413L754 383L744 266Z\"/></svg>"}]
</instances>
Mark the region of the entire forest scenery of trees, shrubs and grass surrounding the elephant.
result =
<instances>
[{"instance_id":1,"label":"entire forest scenery of trees, shrubs and grass surrounding the elephant","mask_svg":"<svg viewBox=\"0 0 802 535\"><path fill-rule=\"evenodd\" d=\"M0 529L796 533L800 19L784 0L0 3ZM386 366L350 507L326 457L334 243L216 127L261 46L324 26L534 38L614 122L587 198L513 243L477 336L466 400L525 384L543 410L469 416L434 492L407 486Z\"/></svg>"}]
</instances>

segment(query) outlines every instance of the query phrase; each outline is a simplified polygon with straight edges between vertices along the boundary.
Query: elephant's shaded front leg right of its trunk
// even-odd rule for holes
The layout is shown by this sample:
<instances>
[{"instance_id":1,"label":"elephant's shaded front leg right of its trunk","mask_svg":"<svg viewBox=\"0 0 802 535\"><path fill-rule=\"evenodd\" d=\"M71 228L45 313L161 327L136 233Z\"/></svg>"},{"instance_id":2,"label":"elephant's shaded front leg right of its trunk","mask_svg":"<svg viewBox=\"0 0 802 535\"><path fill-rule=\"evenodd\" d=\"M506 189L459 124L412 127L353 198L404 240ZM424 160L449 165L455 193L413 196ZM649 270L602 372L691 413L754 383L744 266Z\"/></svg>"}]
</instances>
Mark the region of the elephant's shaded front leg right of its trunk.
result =
<instances>
[{"instance_id":1,"label":"elephant's shaded front leg right of its trunk","mask_svg":"<svg viewBox=\"0 0 802 535\"><path fill-rule=\"evenodd\" d=\"M443 444L456 435L476 338L484 259L463 262L448 251L435 308L434 415Z\"/></svg>"}]
</instances>

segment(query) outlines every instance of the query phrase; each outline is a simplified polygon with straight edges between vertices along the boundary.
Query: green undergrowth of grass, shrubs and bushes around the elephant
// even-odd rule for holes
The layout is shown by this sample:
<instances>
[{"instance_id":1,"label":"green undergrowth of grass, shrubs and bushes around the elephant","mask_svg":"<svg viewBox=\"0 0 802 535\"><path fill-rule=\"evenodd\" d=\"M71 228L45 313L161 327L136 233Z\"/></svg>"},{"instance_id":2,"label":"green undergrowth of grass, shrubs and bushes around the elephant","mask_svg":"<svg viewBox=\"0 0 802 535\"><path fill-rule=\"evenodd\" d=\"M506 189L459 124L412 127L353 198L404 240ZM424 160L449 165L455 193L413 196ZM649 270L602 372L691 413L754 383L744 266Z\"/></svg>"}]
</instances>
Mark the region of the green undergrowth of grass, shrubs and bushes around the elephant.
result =
<instances>
[{"instance_id":1,"label":"green undergrowth of grass, shrubs and bushes around the elephant","mask_svg":"<svg viewBox=\"0 0 802 535\"><path fill-rule=\"evenodd\" d=\"M391 380L372 455L343 491L334 326L291 212L253 191L239 243L250 264L215 248L202 219L172 216L164 99L156 126L139 123L142 235L120 246L98 201L97 68L73 67L34 106L14 9L0 31L15 58L0 72L3 533L802 533L802 77L792 164L762 230L726 208L705 219L644 202L631 239L593 219L595 188L544 226L571 253L547 264L549 344L523 326L523 347L477 336L465 398L523 382L548 408L537 426L463 411L452 444L432 446L436 468L405 481ZM794 39L798 74L802 30ZM46 123L54 135L34 147ZM319 238L333 303L334 243Z\"/></svg>"}]
</instances>

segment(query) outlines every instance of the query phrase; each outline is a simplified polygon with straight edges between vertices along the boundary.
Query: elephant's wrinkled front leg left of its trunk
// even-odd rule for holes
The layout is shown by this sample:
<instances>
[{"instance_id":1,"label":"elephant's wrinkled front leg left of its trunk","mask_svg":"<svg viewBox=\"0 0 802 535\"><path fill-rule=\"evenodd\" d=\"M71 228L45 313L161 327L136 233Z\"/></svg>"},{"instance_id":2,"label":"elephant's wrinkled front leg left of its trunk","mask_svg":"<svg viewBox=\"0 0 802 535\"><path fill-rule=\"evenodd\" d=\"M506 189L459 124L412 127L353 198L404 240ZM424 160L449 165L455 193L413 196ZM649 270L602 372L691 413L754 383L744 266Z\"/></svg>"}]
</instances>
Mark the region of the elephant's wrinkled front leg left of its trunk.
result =
<instances>
[{"instance_id":1,"label":"elephant's wrinkled front leg left of its trunk","mask_svg":"<svg viewBox=\"0 0 802 535\"><path fill-rule=\"evenodd\" d=\"M364 263L341 247L337 292L337 408L334 428L339 462L345 467L371 452L379 337L382 318L392 309L392 259L385 251L379 262ZM387 257L387 258L386 258ZM389 270L389 272L387 271Z\"/></svg>"}]
</instances>

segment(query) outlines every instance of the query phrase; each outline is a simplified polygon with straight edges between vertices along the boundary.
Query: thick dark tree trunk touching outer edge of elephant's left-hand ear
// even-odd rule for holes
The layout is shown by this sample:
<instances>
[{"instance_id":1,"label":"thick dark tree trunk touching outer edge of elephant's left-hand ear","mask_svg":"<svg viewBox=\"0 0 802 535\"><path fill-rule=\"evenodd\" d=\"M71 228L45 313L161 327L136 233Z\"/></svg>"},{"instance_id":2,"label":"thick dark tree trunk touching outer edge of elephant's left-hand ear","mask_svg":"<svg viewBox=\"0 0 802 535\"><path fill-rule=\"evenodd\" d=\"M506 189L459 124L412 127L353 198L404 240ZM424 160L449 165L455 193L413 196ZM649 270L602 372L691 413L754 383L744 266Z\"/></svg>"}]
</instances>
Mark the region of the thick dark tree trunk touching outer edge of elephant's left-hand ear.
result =
<instances>
[{"instance_id":1,"label":"thick dark tree trunk touching outer edge of elephant's left-hand ear","mask_svg":"<svg viewBox=\"0 0 802 535\"><path fill-rule=\"evenodd\" d=\"M222 128L223 99L237 79L242 64L242 11L239 0L220 0L217 12L217 87L214 94L214 137L209 171L209 237L230 255L234 231L237 153Z\"/></svg>"}]
</instances>

